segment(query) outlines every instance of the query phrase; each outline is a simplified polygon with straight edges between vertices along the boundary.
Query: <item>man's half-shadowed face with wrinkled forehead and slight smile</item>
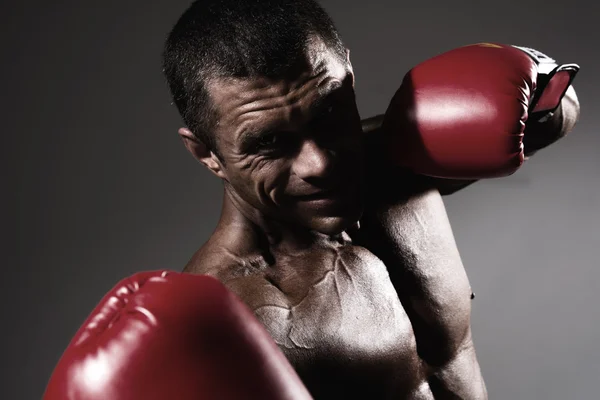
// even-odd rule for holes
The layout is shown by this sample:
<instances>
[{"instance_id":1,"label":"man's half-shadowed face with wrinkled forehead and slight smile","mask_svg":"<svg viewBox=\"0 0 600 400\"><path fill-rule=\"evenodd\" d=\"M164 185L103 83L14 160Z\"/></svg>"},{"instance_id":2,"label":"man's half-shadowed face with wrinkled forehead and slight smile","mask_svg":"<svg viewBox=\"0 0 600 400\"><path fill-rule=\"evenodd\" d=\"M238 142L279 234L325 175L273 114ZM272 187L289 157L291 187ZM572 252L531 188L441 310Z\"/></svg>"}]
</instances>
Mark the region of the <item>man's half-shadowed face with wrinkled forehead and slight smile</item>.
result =
<instances>
[{"instance_id":1,"label":"man's half-shadowed face with wrinkled forehead and slight smile","mask_svg":"<svg viewBox=\"0 0 600 400\"><path fill-rule=\"evenodd\" d=\"M261 216L325 234L362 214L362 130L349 62L312 44L284 80L213 81L222 173Z\"/></svg>"}]
</instances>

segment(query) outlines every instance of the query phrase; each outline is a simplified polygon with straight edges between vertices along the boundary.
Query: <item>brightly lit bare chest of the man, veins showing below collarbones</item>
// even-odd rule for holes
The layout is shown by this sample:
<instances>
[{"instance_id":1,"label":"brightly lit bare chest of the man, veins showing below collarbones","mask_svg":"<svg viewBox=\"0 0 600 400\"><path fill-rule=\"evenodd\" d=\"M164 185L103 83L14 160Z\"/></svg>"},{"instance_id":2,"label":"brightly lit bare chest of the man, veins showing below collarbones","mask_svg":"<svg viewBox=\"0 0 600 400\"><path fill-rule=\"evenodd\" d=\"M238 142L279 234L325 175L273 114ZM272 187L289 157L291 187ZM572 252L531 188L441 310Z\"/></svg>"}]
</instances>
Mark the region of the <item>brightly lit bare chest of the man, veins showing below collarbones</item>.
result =
<instances>
[{"instance_id":1,"label":"brightly lit bare chest of the man, veins showing below collarbones","mask_svg":"<svg viewBox=\"0 0 600 400\"><path fill-rule=\"evenodd\" d=\"M410 342L410 321L388 272L368 251L344 246L282 261L293 269L286 265L289 273L270 279L286 306L255 309L280 346L318 349L335 343L373 353Z\"/></svg>"}]
</instances>

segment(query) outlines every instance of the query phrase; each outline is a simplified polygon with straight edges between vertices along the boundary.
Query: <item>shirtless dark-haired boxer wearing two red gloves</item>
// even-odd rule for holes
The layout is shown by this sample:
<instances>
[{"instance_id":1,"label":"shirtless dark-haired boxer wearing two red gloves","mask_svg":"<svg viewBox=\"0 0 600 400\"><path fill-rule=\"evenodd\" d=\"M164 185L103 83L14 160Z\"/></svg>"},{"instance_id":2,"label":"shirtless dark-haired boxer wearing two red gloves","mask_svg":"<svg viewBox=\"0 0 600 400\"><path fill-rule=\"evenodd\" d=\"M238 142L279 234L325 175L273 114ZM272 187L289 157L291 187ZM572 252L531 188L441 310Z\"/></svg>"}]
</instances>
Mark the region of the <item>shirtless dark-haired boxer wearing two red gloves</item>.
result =
<instances>
[{"instance_id":1,"label":"shirtless dark-haired boxer wearing two red gloves","mask_svg":"<svg viewBox=\"0 0 600 400\"><path fill-rule=\"evenodd\" d=\"M171 31L164 69L185 147L223 182L222 213L170 290L139 295L152 299L148 330L160 326L165 343L185 346L154 357L152 346L129 351L122 330L110 332L107 343L116 337L127 348L111 361L134 375L110 380L112 393L127 393L111 398L147 398L145 385L168 393L169 384L188 388L185 398L220 398L215 387L252 382L269 386L269 398L307 396L272 347L223 345L206 331L272 340L316 399L487 398L473 294L441 195L509 175L572 130L578 67L527 48L466 46L415 67L385 115L361 121L349 52L315 1L200 0ZM194 295L193 275L219 281L245 305L219 297L199 307L206 300ZM180 285L189 296L175 296ZM173 296L175 317L161 306ZM214 323L244 307L252 315ZM157 314L177 324L152 322ZM254 319L268 334L244 328ZM174 328L185 321L194 335ZM162 337L152 335L155 347ZM207 340L212 357L198 351ZM238 368L232 352L250 361ZM77 371L81 355L65 357L59 372ZM173 365L179 379L140 383ZM213 386L190 383L211 373ZM56 393L69 379L56 378L67 382ZM238 394L256 398L249 393Z\"/></svg>"}]
</instances>

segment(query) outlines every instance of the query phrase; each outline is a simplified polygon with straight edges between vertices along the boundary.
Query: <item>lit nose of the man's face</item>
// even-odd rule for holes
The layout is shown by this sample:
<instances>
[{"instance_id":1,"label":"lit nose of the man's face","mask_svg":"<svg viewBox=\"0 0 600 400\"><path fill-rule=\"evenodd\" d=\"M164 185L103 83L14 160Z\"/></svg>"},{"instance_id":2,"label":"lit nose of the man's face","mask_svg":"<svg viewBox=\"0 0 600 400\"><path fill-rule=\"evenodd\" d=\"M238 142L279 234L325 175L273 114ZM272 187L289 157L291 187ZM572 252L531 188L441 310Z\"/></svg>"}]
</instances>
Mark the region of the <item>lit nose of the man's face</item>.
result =
<instances>
[{"instance_id":1,"label":"lit nose of the man's face","mask_svg":"<svg viewBox=\"0 0 600 400\"><path fill-rule=\"evenodd\" d=\"M293 172L303 180L311 178L325 178L335 162L333 151L324 149L313 140L306 140L293 164Z\"/></svg>"}]
</instances>

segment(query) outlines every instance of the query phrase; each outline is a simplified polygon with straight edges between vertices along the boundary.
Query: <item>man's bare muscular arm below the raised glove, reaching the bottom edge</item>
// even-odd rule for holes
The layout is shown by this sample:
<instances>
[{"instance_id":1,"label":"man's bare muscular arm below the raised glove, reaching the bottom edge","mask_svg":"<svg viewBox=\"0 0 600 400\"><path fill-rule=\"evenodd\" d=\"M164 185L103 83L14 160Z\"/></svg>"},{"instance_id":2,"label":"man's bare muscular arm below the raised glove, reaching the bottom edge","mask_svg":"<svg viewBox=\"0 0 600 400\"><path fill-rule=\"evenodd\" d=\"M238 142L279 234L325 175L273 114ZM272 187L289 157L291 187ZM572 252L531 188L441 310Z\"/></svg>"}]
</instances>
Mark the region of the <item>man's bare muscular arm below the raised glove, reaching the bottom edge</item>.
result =
<instances>
[{"instance_id":1,"label":"man's bare muscular arm below the raised glove, reaching the bottom edge","mask_svg":"<svg viewBox=\"0 0 600 400\"><path fill-rule=\"evenodd\" d=\"M352 240L387 266L435 398L485 399L471 340L472 291L442 198L435 188L386 177L387 184L370 181L375 187Z\"/></svg>"}]
</instances>

